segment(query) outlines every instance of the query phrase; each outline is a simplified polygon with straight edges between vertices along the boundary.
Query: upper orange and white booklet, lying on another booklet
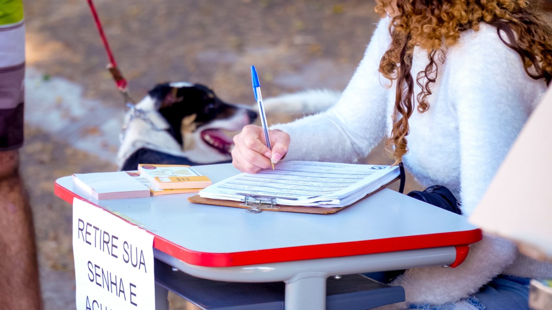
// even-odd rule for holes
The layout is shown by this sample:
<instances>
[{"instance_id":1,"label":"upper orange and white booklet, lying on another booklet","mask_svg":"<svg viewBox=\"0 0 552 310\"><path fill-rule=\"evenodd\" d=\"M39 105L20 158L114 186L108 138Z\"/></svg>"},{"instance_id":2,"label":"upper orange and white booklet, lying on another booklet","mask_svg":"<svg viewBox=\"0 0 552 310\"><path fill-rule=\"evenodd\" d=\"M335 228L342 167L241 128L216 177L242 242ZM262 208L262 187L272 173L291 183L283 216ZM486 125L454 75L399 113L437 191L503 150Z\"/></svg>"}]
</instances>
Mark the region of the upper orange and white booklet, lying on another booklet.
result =
<instances>
[{"instance_id":1,"label":"upper orange and white booklet, lying on another booklet","mask_svg":"<svg viewBox=\"0 0 552 310\"><path fill-rule=\"evenodd\" d=\"M139 164L138 171L158 189L202 189L212 184L189 165Z\"/></svg>"}]
</instances>

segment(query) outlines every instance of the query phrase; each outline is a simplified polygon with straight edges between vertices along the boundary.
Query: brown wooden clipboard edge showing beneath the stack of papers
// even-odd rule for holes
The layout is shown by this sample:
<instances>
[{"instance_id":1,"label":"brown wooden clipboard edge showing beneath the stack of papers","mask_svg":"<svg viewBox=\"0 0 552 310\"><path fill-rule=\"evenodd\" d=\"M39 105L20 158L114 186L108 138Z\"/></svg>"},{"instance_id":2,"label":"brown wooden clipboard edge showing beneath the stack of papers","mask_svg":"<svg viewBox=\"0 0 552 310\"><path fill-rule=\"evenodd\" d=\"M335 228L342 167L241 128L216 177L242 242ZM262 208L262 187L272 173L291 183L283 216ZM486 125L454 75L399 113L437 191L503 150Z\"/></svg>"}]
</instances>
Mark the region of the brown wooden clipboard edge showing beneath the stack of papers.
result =
<instances>
[{"instance_id":1,"label":"brown wooden clipboard edge showing beneath the stack of papers","mask_svg":"<svg viewBox=\"0 0 552 310\"><path fill-rule=\"evenodd\" d=\"M364 196L362 199L373 195L374 193L378 193L381 189L389 186L390 184L394 183L395 181L399 180L400 178L397 177L394 180L390 181L388 184L385 184L381 186L379 189L376 189L372 193ZM360 200L362 200L360 199ZM358 200L358 201L360 201ZM241 209L252 209L251 205L246 205L243 201L233 201L233 200L221 200L221 199L209 199L209 198L202 198L199 195L195 195L188 198L189 202L194 202L194 204L204 204L204 205L215 205L215 206L227 206L227 207L236 207ZM354 204L353 204L354 205ZM339 210L342 210L348 206L344 207L338 207L338 208L324 208L324 207L307 207L307 206L283 206L283 205L276 205L276 207L270 207L268 204L261 204L258 206L259 210L262 211L282 211L282 212L299 212L299 213L312 213L312 214L330 214L335 213Z\"/></svg>"}]
</instances>

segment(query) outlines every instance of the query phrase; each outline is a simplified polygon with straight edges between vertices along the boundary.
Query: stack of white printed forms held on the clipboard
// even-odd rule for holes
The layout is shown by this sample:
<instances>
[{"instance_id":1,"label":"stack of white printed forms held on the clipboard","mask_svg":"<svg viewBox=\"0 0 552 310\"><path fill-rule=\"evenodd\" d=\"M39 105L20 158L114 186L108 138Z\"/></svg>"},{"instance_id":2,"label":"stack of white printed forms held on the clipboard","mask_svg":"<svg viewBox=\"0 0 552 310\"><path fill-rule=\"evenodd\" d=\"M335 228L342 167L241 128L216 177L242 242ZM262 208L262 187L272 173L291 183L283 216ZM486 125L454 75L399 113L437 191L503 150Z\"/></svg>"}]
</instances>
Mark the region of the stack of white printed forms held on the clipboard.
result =
<instances>
[{"instance_id":1,"label":"stack of white printed forms held on the clipboard","mask_svg":"<svg viewBox=\"0 0 552 310\"><path fill-rule=\"evenodd\" d=\"M284 162L276 169L242 173L199 191L209 199L243 201L245 196L288 206L344 207L399 176L399 167L323 162Z\"/></svg>"}]
</instances>

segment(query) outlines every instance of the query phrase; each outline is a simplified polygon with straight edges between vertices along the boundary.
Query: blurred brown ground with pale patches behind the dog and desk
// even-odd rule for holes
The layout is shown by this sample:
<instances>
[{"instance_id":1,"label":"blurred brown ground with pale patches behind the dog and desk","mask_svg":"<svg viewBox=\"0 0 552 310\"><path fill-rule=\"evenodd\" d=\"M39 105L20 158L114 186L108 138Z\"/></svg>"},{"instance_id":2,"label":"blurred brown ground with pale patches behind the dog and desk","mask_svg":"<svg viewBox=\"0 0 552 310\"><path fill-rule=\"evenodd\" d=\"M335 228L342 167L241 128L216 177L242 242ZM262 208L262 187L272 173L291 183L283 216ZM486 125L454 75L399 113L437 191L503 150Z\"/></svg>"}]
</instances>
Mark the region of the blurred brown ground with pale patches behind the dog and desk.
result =
<instances>
[{"instance_id":1,"label":"blurred brown ground with pale patches behind the dog and desk","mask_svg":"<svg viewBox=\"0 0 552 310\"><path fill-rule=\"evenodd\" d=\"M264 97L305 88L342 90L378 20L374 3L364 0L95 3L136 99L156 83L189 81L209 85L223 100L252 104L252 64L262 74ZM54 180L116 169L123 102L105 71L86 1L27 1L25 10L22 172L46 309L74 309L71 206L54 196ZM386 161L381 147L371 155L371 163ZM185 309L185 303L171 296L171 309Z\"/></svg>"}]
</instances>

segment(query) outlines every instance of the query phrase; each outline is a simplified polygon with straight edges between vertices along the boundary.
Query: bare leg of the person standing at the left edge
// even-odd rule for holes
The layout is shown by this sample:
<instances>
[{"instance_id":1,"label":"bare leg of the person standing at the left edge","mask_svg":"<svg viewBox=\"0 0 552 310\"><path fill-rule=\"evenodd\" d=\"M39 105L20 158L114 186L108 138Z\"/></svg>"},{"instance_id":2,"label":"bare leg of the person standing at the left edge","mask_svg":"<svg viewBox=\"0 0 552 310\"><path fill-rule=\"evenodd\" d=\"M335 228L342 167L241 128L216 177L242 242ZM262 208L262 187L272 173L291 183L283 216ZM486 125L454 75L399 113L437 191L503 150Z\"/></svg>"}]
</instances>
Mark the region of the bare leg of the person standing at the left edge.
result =
<instances>
[{"instance_id":1,"label":"bare leg of the person standing at the left edge","mask_svg":"<svg viewBox=\"0 0 552 310\"><path fill-rule=\"evenodd\" d=\"M0 151L0 309L42 309L33 216L19 153Z\"/></svg>"}]
</instances>

